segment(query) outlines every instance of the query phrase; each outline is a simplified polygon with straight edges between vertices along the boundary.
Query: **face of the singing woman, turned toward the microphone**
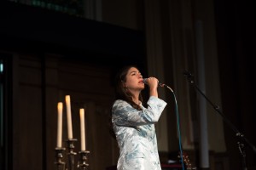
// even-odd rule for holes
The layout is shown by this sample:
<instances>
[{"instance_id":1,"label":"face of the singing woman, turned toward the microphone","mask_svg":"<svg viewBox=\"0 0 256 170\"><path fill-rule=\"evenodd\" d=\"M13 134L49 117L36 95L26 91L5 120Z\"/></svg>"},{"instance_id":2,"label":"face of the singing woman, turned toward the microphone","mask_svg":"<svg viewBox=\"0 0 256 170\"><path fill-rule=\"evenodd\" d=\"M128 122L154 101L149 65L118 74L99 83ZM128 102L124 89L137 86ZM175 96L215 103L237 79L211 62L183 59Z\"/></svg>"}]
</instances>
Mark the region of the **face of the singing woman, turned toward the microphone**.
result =
<instances>
[{"instance_id":1,"label":"face of the singing woman, turned toward the microphone","mask_svg":"<svg viewBox=\"0 0 256 170\"><path fill-rule=\"evenodd\" d=\"M141 91L145 88L143 76L135 67L131 67L126 75L125 87L132 91Z\"/></svg>"}]
</instances>

